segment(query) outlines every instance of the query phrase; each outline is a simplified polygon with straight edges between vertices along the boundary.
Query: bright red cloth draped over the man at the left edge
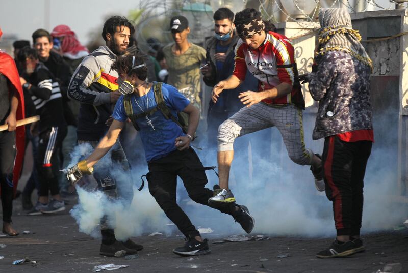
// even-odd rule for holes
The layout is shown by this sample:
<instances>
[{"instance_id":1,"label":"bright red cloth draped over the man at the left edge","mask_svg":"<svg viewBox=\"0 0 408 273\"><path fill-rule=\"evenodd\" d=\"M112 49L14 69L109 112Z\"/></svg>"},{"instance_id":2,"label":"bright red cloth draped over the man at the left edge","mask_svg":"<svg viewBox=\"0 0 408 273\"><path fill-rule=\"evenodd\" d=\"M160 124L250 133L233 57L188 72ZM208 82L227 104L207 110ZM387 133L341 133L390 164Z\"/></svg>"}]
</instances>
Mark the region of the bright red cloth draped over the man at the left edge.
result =
<instances>
[{"instance_id":1,"label":"bright red cloth draped over the man at the left edge","mask_svg":"<svg viewBox=\"0 0 408 273\"><path fill-rule=\"evenodd\" d=\"M16 64L14 59L2 51L0 51L0 73L5 75L14 87L14 92L17 94L18 107L16 113L16 119L20 120L25 118L24 115L24 95L22 93L22 87L20 83L20 76L18 75ZM13 186L14 193L17 189L18 180L21 174L22 163L24 159L24 149L25 149L25 130L24 126L19 126L16 129L16 148L17 155L14 161L13 169Z\"/></svg>"}]
</instances>

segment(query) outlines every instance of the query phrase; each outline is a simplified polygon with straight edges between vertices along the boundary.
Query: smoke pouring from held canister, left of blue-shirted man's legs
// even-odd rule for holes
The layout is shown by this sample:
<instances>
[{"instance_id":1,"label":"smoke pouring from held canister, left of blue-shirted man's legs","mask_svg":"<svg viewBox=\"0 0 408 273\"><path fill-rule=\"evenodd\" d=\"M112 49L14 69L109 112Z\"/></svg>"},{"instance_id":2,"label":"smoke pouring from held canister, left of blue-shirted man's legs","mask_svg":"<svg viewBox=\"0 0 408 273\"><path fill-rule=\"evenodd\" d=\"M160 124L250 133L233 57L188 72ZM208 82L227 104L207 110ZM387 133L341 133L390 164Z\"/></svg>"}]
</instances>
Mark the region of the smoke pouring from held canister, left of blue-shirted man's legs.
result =
<instances>
[{"instance_id":1,"label":"smoke pouring from held canister, left of blue-shirted man's legs","mask_svg":"<svg viewBox=\"0 0 408 273\"><path fill-rule=\"evenodd\" d=\"M83 157L82 155L89 155L91 151L92 147L89 144L75 147L70 166L78 162ZM97 164L111 164L109 153ZM120 166L107 166L113 170L112 175L117 181L140 177L140 171L135 171L130 177L121 171ZM143 170L144 168L134 169ZM93 237L100 237L100 220L105 216L109 225L115 229L115 236L119 240L126 240L131 236L139 236L144 232L150 233L151 231L171 233L172 228L166 226L170 221L146 189L139 192L132 187L134 198L129 204L121 198L117 200L108 198L103 192L96 190L95 182L92 180L89 185L83 185L83 187L77 185L79 203L70 211L81 232ZM132 181L132 185L133 183L134 181Z\"/></svg>"}]
</instances>

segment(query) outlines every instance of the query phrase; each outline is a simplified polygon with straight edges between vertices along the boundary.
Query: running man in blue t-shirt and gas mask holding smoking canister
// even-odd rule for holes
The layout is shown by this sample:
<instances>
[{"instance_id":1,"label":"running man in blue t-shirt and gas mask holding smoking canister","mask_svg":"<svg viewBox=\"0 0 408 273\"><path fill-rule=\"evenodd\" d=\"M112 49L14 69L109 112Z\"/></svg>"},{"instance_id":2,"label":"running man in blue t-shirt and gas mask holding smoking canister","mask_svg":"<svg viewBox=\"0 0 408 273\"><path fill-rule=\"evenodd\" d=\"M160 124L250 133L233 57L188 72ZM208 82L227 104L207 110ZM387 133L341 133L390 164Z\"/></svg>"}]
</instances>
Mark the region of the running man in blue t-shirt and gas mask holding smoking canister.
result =
<instances>
[{"instance_id":1,"label":"running man in blue t-shirt and gas mask holding smoking canister","mask_svg":"<svg viewBox=\"0 0 408 273\"><path fill-rule=\"evenodd\" d=\"M193 201L208 205L207 200L213 196L213 191L205 188L208 182L205 168L190 147L192 136L198 126L199 110L173 86L162 85L164 102L174 117L180 111L189 116L185 134L177 123L172 119L166 119L157 108L154 86L159 83L146 82L147 68L142 57L137 55L119 57L111 68L119 74L119 89L124 89L123 87L127 85L132 90L130 102L133 114L137 117L134 121L142 139L149 168L147 174L149 192L167 217L189 239L185 246L176 248L173 252L179 255L209 254L207 239L201 238L188 216L176 203L177 176L182 178ZM121 96L116 103L112 114L114 120L108 133L100 140L93 153L68 170L68 173L78 177L82 174L91 174L92 166L115 144L127 119L123 99L124 96ZM254 220L245 206L225 204L217 209L233 216L246 232L252 231Z\"/></svg>"}]
</instances>

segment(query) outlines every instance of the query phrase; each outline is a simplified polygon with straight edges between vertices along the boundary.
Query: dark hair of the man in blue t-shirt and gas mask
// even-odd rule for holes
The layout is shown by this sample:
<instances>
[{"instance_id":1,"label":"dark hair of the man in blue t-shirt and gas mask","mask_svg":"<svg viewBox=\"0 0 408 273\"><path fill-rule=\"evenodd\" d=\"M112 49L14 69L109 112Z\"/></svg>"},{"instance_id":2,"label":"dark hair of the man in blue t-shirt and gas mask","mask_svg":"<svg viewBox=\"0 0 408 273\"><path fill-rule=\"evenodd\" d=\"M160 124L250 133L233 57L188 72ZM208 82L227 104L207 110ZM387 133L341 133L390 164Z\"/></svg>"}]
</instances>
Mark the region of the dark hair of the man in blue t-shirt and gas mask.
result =
<instances>
[{"instance_id":1,"label":"dark hair of the man in blue t-shirt and gas mask","mask_svg":"<svg viewBox=\"0 0 408 273\"><path fill-rule=\"evenodd\" d=\"M135 57L135 63L132 65L133 57ZM147 78L147 67L139 67L132 69L132 67L145 64L146 57L141 53L129 54L118 57L111 65L111 68L118 72L118 74L136 75L139 80L145 80Z\"/></svg>"}]
</instances>

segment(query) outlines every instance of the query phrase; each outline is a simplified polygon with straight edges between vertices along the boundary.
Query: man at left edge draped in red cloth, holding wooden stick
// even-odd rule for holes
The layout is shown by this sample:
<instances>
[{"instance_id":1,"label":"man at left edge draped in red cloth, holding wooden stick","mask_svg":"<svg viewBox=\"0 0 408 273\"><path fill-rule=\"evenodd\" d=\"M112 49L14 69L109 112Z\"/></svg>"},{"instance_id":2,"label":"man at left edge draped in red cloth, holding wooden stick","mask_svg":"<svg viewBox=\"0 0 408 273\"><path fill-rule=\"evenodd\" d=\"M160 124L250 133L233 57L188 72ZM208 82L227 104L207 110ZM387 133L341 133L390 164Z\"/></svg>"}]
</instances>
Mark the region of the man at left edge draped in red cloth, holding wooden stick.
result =
<instances>
[{"instance_id":1,"label":"man at left edge draped in red cloth, holding wooden stick","mask_svg":"<svg viewBox=\"0 0 408 273\"><path fill-rule=\"evenodd\" d=\"M2 36L0 29L0 37ZM24 97L17 67L13 58L0 51L0 125L8 128L0 132L0 187L3 206L3 233L17 236L11 226L13 196L24 155L24 126L17 119L24 118Z\"/></svg>"}]
</instances>

